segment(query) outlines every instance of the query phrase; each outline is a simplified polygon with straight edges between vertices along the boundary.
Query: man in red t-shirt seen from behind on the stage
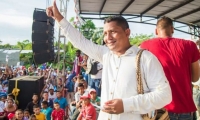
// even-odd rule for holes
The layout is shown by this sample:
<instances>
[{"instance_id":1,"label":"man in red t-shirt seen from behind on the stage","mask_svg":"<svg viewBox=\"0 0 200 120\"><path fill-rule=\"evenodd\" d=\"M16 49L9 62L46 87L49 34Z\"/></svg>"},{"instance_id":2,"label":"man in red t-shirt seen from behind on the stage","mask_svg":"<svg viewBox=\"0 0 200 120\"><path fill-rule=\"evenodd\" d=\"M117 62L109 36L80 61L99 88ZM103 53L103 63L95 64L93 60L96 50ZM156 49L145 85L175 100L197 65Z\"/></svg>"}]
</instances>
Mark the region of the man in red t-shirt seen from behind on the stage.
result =
<instances>
[{"instance_id":1,"label":"man in red t-shirt seen from behind on the stage","mask_svg":"<svg viewBox=\"0 0 200 120\"><path fill-rule=\"evenodd\" d=\"M158 58L169 80L172 102L165 108L171 120L192 120L196 107L191 82L198 81L200 74L197 46L192 41L173 38L173 21L168 17L158 20L155 32L157 38L144 41L140 47Z\"/></svg>"}]
</instances>

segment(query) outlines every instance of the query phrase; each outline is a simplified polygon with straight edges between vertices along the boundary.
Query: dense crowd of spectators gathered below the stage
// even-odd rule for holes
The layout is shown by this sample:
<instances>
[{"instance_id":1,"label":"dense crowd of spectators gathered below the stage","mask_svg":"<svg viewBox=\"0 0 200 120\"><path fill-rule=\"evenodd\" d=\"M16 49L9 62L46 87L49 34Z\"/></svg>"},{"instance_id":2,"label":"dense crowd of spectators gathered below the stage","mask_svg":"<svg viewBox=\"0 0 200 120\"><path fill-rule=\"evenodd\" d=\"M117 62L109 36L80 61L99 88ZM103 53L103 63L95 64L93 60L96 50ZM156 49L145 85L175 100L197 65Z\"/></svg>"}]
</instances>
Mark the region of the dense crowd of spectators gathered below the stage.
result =
<instances>
[{"instance_id":1,"label":"dense crowd of spectators gathered below the stage","mask_svg":"<svg viewBox=\"0 0 200 120\"><path fill-rule=\"evenodd\" d=\"M72 70L66 70L65 73L57 72L57 69L52 69L46 64L43 68L33 65L29 68L2 67L5 69L0 69L2 83L0 118L5 120L82 120L82 117L97 119L100 111L100 81L103 66L94 59L88 58L87 55L81 54L80 50L76 51L76 57L70 64L73 66ZM92 68L94 66L95 69ZM8 93L8 82L12 78L27 75L41 76L45 85L40 95L33 93L32 101L29 101L26 109L22 111L14 101L13 94ZM86 112L88 109L90 113Z\"/></svg>"}]
</instances>

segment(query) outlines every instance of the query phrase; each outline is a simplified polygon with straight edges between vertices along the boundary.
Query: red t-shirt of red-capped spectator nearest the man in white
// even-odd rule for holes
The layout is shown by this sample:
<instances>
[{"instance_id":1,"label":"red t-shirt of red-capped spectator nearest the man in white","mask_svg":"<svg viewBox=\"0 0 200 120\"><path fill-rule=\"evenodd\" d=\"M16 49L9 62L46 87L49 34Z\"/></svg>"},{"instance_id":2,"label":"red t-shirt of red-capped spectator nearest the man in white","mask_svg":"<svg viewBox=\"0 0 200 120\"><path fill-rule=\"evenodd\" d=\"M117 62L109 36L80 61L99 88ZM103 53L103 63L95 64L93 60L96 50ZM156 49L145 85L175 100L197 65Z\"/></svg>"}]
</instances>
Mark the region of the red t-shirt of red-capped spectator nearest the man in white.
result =
<instances>
[{"instance_id":1,"label":"red t-shirt of red-capped spectator nearest the man in white","mask_svg":"<svg viewBox=\"0 0 200 120\"><path fill-rule=\"evenodd\" d=\"M83 107L81 110L82 120L96 120L96 110L92 104L89 104L86 107Z\"/></svg>"}]
</instances>

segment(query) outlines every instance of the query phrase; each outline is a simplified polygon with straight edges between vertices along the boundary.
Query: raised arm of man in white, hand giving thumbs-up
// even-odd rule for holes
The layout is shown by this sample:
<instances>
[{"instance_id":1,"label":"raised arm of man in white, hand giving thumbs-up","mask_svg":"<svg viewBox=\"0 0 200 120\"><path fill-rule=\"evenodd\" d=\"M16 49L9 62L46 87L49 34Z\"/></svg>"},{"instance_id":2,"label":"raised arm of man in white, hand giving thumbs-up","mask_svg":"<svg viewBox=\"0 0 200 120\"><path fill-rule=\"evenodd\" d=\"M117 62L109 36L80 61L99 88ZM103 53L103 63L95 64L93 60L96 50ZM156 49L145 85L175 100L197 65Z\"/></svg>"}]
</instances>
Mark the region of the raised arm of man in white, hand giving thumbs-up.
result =
<instances>
[{"instance_id":1,"label":"raised arm of man in white, hand giving thumbs-up","mask_svg":"<svg viewBox=\"0 0 200 120\"><path fill-rule=\"evenodd\" d=\"M103 54L108 51L107 47L96 45L87 40L77 29L75 29L58 11L56 1L53 6L47 8L46 13L49 17L54 18L60 25L65 37L78 49L90 56L91 58L102 62Z\"/></svg>"}]
</instances>

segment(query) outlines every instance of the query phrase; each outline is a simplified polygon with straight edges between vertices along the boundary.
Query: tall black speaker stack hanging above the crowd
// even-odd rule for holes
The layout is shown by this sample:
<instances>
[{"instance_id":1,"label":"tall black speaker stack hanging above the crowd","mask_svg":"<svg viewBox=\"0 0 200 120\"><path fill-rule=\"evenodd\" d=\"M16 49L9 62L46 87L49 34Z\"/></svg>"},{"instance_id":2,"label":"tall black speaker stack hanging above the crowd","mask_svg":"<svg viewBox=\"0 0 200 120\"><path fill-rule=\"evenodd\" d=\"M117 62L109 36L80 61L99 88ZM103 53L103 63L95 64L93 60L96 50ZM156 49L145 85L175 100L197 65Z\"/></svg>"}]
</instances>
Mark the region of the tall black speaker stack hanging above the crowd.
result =
<instances>
[{"instance_id":1,"label":"tall black speaker stack hanging above the crowd","mask_svg":"<svg viewBox=\"0 0 200 120\"><path fill-rule=\"evenodd\" d=\"M54 60L54 24L45 9L36 8L33 13L32 50L36 64Z\"/></svg>"}]
</instances>

